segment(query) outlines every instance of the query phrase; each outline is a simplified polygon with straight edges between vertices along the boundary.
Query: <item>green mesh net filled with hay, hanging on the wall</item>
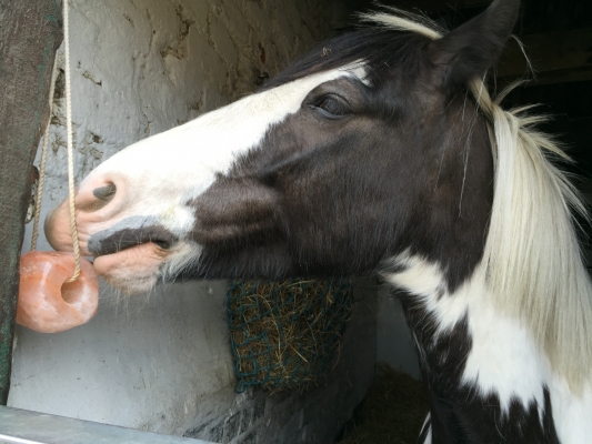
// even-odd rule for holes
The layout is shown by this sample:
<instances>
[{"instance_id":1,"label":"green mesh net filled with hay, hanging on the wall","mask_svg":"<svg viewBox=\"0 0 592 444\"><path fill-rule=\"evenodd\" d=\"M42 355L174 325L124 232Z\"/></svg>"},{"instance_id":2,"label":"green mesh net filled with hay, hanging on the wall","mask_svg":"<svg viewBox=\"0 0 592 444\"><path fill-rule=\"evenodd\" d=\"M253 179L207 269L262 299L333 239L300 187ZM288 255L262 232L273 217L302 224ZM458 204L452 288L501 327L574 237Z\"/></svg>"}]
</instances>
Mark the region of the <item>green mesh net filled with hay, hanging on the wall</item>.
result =
<instances>
[{"instance_id":1,"label":"green mesh net filled with hay, hanging on the wall","mask_svg":"<svg viewBox=\"0 0 592 444\"><path fill-rule=\"evenodd\" d=\"M237 392L304 390L329 371L352 293L347 280L233 281L227 310Z\"/></svg>"}]
</instances>

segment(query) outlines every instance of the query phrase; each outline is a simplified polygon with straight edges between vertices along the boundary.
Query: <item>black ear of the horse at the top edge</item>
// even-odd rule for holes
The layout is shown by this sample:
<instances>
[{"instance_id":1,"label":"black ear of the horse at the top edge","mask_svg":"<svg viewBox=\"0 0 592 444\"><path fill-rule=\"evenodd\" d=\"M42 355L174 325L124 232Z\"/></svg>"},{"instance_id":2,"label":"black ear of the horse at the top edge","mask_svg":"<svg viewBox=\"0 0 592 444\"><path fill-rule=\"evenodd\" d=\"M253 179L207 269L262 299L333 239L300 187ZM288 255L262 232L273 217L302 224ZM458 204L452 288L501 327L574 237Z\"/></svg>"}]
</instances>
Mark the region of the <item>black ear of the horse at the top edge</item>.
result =
<instances>
[{"instance_id":1,"label":"black ear of the horse at the top edge","mask_svg":"<svg viewBox=\"0 0 592 444\"><path fill-rule=\"evenodd\" d=\"M430 43L431 61L441 69L443 83L465 84L493 67L512 33L520 0L495 0L481 14Z\"/></svg>"}]
</instances>

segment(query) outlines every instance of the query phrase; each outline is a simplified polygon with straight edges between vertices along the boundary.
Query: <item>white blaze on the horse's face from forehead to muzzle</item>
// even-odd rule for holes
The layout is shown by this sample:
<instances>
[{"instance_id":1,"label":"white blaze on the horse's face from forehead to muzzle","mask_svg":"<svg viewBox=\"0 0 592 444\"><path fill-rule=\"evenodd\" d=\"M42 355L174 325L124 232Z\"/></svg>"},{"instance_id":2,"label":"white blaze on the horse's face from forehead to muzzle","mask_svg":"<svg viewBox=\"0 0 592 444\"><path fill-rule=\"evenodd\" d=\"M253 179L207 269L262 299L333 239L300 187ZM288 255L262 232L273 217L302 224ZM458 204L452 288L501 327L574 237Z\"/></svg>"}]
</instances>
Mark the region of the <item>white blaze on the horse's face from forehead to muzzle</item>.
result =
<instances>
[{"instance_id":1,"label":"white blaze on the horse's face from forehead to muzzle","mask_svg":"<svg viewBox=\"0 0 592 444\"><path fill-rule=\"evenodd\" d=\"M114 206L118 211L108 214L110 226L130 215L155 216L182 236L194 223L188 200L200 195L217 174L227 173L240 155L259 145L273 124L295 113L312 89L345 75L363 75L363 70L343 68L299 79L144 139L99 165L80 188L116 183L120 195L110 205L111 211Z\"/></svg>"}]
</instances>

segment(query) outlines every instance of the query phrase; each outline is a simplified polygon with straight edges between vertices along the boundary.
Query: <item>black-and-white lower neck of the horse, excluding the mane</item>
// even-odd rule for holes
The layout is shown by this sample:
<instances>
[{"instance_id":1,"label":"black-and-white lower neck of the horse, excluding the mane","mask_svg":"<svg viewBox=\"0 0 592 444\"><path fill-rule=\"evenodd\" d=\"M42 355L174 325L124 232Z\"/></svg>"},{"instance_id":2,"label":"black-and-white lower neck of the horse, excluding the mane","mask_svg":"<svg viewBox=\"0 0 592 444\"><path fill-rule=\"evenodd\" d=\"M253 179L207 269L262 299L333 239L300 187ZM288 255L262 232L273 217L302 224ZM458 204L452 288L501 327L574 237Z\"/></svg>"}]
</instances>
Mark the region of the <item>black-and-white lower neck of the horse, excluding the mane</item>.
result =
<instances>
[{"instance_id":1,"label":"black-and-white lower neck of the horse, excluding the mane","mask_svg":"<svg viewBox=\"0 0 592 444\"><path fill-rule=\"evenodd\" d=\"M402 301L415 341L432 436L498 442L500 431L514 436L512 427L524 427L534 440L529 442L556 436L548 360L528 327L491 301L482 265L449 292L437 264L409 255L397 262L398 271L384 278Z\"/></svg>"}]
</instances>

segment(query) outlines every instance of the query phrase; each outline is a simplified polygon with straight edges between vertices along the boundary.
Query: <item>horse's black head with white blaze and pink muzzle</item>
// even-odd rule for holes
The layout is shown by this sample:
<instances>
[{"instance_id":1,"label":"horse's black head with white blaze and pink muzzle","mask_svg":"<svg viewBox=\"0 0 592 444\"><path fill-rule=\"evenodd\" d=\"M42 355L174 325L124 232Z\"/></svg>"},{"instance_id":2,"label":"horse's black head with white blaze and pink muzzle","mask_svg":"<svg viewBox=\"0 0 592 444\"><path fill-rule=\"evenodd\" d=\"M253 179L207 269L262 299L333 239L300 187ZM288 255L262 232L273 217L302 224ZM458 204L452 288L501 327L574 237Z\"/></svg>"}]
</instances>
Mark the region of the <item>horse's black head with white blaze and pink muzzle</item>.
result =
<instances>
[{"instance_id":1,"label":"horse's black head with white blaze and pink muzzle","mask_svg":"<svg viewBox=\"0 0 592 444\"><path fill-rule=\"evenodd\" d=\"M412 251L459 285L492 204L488 130L466 83L518 0L435 39L391 26L322 43L261 91L142 140L80 184L82 253L134 293L191 278L371 272ZM46 222L69 250L68 204Z\"/></svg>"}]
</instances>

